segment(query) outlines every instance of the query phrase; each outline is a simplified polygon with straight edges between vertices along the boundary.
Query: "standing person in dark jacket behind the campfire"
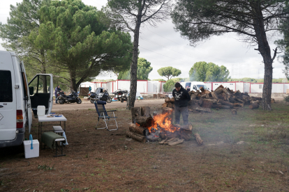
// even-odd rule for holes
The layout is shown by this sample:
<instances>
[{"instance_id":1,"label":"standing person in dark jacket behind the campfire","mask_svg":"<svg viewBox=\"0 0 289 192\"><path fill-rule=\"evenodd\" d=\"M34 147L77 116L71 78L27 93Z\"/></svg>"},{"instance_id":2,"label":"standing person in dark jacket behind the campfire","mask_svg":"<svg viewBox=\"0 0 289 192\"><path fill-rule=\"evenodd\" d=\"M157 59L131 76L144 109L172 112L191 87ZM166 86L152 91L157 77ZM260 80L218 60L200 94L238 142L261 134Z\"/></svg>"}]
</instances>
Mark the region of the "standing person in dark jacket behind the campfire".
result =
<instances>
[{"instance_id":1,"label":"standing person in dark jacket behind the campfire","mask_svg":"<svg viewBox=\"0 0 289 192\"><path fill-rule=\"evenodd\" d=\"M183 116L184 125L188 125L188 101L191 100L188 91L180 83L175 83L175 89L172 90L172 96L175 97L175 122L179 124L179 118Z\"/></svg>"}]
</instances>

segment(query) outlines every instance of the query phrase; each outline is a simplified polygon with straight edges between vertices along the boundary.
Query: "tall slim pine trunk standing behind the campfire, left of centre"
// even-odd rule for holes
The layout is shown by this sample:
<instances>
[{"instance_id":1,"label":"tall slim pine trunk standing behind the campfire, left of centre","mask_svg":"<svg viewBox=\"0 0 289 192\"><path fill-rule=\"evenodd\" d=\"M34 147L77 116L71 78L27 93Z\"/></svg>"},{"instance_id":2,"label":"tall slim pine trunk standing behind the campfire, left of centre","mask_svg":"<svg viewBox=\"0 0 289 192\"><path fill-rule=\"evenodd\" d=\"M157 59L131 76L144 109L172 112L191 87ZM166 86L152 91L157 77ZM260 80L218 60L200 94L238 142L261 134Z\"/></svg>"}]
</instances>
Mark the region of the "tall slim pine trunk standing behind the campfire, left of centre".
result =
<instances>
[{"instance_id":1,"label":"tall slim pine trunk standing behind the campfire, left of centre","mask_svg":"<svg viewBox=\"0 0 289 192\"><path fill-rule=\"evenodd\" d=\"M135 106L135 95L138 83L138 41L140 38L140 24L142 16L139 14L133 31L133 59L131 62L131 88L128 99L128 110Z\"/></svg>"}]
</instances>

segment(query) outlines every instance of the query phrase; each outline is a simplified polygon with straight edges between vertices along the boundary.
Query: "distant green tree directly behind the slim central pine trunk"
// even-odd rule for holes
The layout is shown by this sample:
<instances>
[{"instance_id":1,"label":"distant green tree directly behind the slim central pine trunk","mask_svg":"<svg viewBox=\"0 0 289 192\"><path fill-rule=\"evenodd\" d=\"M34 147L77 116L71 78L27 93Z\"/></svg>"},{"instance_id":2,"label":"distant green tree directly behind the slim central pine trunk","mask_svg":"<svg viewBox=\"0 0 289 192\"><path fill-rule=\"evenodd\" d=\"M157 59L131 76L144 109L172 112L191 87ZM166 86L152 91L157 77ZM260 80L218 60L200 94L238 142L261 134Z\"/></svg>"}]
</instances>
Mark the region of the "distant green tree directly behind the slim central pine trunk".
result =
<instances>
[{"instance_id":1,"label":"distant green tree directly behind the slim central pine trunk","mask_svg":"<svg viewBox=\"0 0 289 192\"><path fill-rule=\"evenodd\" d=\"M148 80L149 73L153 70L151 67L151 63L147 61L145 58L138 58L138 80ZM131 79L131 70L125 72L119 72L119 76L117 79Z\"/></svg>"}]
</instances>

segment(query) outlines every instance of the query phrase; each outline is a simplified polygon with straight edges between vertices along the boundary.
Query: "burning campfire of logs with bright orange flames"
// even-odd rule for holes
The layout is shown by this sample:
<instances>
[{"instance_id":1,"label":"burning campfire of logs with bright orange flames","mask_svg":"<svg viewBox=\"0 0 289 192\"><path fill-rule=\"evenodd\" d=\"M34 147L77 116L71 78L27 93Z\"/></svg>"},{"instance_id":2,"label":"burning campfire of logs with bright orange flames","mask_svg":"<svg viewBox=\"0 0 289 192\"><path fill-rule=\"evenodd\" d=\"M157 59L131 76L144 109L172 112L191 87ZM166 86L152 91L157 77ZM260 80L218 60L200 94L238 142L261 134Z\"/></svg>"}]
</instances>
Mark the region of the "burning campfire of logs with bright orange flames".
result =
<instances>
[{"instance_id":1,"label":"burning campfire of logs with bright orange flames","mask_svg":"<svg viewBox=\"0 0 289 192\"><path fill-rule=\"evenodd\" d=\"M126 136L146 143L147 141L160 141L160 144L177 145L184 141L195 138L199 145L202 145L202 139L198 133L195 133L193 126L189 125L170 125L172 129L165 129L164 122L172 122L173 109L163 108L161 114L154 118L149 113L149 107L133 107L131 115L133 123L128 127ZM164 115L165 114L165 115ZM157 125L157 127L156 127Z\"/></svg>"}]
</instances>

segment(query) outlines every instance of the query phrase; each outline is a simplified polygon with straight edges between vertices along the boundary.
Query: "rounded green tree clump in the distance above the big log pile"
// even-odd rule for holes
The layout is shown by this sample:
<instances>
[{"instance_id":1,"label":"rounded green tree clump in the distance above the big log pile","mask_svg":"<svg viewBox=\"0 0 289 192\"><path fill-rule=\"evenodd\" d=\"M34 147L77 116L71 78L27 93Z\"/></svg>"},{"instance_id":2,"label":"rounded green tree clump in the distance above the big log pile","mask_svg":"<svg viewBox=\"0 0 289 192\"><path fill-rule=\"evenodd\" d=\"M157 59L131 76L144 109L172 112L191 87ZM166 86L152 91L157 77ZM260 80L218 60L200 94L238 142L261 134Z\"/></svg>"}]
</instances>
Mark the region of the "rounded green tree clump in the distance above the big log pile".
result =
<instances>
[{"instance_id":1,"label":"rounded green tree clump in the distance above the big log pile","mask_svg":"<svg viewBox=\"0 0 289 192\"><path fill-rule=\"evenodd\" d=\"M219 67L214 63L200 61L193 64L188 72L190 81L228 81L230 72L223 65Z\"/></svg>"}]
</instances>

